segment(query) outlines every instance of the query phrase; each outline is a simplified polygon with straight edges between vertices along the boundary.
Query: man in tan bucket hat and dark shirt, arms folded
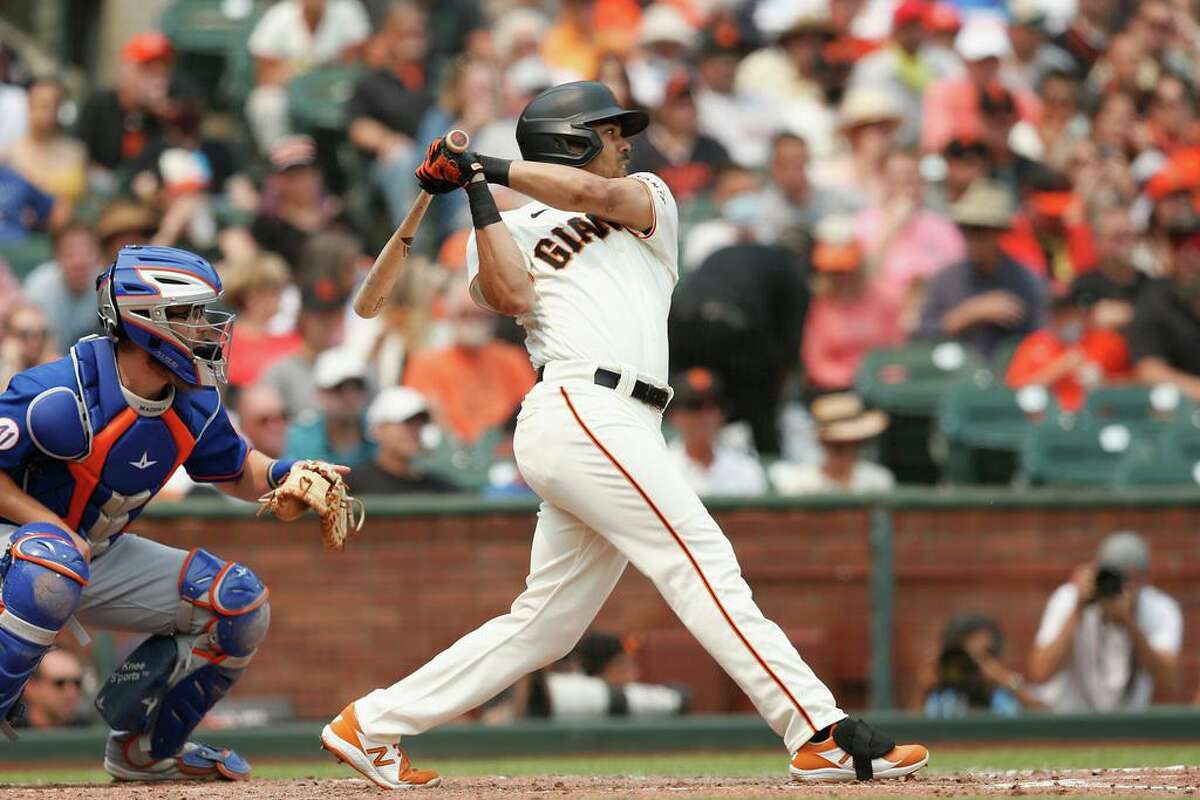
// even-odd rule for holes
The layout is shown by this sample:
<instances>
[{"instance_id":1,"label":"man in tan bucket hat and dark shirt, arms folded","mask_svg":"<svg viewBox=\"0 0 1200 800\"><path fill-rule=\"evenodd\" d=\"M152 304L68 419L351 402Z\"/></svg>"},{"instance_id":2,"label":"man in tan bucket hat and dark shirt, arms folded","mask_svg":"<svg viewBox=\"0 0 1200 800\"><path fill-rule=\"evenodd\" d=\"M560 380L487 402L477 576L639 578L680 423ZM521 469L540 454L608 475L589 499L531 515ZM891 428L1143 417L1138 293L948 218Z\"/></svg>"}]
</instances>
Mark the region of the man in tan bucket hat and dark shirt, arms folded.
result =
<instances>
[{"instance_id":1,"label":"man in tan bucket hat and dark shirt, arms folded","mask_svg":"<svg viewBox=\"0 0 1200 800\"><path fill-rule=\"evenodd\" d=\"M1004 254L1001 234L1013 221L1003 186L978 181L950 209L966 240L966 259L930 281L918 336L952 338L990 357L1000 344L1043 325L1042 282Z\"/></svg>"}]
</instances>

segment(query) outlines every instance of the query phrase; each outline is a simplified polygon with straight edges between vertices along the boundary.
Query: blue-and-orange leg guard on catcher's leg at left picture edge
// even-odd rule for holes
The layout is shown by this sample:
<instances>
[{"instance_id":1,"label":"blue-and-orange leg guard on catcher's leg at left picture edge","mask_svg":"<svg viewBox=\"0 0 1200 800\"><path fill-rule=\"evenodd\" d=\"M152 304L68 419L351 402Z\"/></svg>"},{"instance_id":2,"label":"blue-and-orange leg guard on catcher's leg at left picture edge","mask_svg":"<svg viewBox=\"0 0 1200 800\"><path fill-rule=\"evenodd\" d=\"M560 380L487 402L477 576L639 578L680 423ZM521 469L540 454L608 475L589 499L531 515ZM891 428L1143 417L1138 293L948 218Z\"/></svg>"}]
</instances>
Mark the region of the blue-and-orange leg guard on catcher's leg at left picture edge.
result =
<instances>
[{"instance_id":1,"label":"blue-and-orange leg guard on catcher's leg at left picture edge","mask_svg":"<svg viewBox=\"0 0 1200 800\"><path fill-rule=\"evenodd\" d=\"M10 541L0 560L0 720L8 716L91 577L71 536L56 525L22 525Z\"/></svg>"}]
</instances>

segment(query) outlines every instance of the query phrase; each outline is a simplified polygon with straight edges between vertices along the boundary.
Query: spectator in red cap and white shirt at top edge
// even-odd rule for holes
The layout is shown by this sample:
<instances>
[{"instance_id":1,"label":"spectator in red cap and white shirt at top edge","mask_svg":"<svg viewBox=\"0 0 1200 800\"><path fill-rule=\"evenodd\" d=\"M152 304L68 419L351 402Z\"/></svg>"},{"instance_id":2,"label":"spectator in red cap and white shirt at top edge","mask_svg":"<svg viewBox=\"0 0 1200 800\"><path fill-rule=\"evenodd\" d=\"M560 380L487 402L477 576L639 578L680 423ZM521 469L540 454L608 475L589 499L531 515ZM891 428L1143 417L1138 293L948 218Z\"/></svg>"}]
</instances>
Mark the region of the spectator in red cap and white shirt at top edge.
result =
<instances>
[{"instance_id":1,"label":"spectator in red cap and white shirt at top edge","mask_svg":"<svg viewBox=\"0 0 1200 800\"><path fill-rule=\"evenodd\" d=\"M935 80L956 74L961 67L949 53L925 46L926 0L901 0L892 12L892 36L882 48L864 56L850 73L851 89L871 86L900 103L904 125L896 142L913 146L920 136L920 101Z\"/></svg>"}]
</instances>

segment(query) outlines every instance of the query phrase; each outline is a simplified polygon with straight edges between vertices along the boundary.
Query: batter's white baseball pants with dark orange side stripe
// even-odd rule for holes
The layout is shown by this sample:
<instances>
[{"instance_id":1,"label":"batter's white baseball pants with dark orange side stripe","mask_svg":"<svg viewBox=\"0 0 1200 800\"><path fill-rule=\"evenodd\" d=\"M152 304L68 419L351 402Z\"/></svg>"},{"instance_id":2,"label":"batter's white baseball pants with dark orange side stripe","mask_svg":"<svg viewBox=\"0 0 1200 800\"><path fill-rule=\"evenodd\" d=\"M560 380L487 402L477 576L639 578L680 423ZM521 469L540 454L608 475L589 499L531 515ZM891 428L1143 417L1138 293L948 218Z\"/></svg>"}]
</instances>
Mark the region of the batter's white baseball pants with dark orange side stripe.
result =
<instances>
[{"instance_id":1,"label":"batter's white baseball pants with dark orange side stripe","mask_svg":"<svg viewBox=\"0 0 1200 800\"><path fill-rule=\"evenodd\" d=\"M634 563L794 752L842 717L828 687L755 604L728 540L671 464L662 415L636 377L596 386L589 362L553 362L517 417L521 474L544 499L526 590L508 614L389 688L355 702L377 740L419 734L565 656Z\"/></svg>"}]
</instances>

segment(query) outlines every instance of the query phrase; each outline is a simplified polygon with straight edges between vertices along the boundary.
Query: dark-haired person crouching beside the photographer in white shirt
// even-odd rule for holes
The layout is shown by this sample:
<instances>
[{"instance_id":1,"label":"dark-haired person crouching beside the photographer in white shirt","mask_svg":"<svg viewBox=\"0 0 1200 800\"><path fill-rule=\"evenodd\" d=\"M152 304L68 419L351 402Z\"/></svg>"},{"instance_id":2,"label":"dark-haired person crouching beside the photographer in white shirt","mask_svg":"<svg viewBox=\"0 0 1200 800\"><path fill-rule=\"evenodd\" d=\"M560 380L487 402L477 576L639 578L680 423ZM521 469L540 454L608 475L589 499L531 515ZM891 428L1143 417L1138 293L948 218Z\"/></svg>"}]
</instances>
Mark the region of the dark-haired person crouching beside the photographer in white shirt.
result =
<instances>
[{"instance_id":1,"label":"dark-haired person crouching beside the photographer in white shirt","mask_svg":"<svg viewBox=\"0 0 1200 800\"><path fill-rule=\"evenodd\" d=\"M924 670L918 706L926 717L959 717L970 710L1015 716L1042 708L1020 673L1001 663L1004 634L980 614L955 615L942 632L936 660Z\"/></svg>"}]
</instances>

